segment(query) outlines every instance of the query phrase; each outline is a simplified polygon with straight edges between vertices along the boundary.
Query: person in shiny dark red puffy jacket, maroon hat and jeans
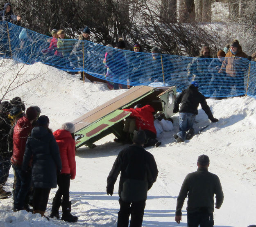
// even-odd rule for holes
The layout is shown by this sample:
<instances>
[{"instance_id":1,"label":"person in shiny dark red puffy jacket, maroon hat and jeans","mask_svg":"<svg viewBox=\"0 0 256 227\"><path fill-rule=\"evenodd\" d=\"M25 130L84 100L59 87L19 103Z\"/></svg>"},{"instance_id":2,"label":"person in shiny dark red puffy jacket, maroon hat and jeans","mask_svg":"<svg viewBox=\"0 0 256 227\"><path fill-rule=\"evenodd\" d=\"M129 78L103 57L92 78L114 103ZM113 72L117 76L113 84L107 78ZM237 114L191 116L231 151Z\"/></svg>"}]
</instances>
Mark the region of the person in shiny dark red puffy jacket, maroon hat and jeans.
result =
<instances>
[{"instance_id":1,"label":"person in shiny dark red puffy jacket, maroon hat and jeans","mask_svg":"<svg viewBox=\"0 0 256 227\"><path fill-rule=\"evenodd\" d=\"M14 211L26 209L30 211L28 204L25 204L25 198L31 186L31 169L27 172L22 171L23 155L25 152L27 137L32 130L32 122L37 117L36 108L30 106L26 110L24 117L18 119L14 127L13 135L13 155L11 165L16 175L16 186L14 189Z\"/></svg>"}]
</instances>

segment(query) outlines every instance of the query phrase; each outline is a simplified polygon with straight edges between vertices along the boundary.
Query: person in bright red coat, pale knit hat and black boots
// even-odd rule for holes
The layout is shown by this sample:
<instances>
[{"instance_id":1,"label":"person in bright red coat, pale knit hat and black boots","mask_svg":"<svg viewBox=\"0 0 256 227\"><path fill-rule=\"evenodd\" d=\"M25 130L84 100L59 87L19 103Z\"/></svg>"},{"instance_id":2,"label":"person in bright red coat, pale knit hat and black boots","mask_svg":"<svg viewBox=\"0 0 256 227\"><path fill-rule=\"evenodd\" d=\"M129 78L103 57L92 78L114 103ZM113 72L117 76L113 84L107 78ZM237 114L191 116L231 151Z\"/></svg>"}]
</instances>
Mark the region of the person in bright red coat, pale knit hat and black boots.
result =
<instances>
[{"instance_id":1,"label":"person in bright red coat, pale knit hat and black boots","mask_svg":"<svg viewBox=\"0 0 256 227\"><path fill-rule=\"evenodd\" d=\"M71 202L69 201L70 180L75 179L76 162L75 162L75 125L66 122L62 129L56 130L53 135L59 145L61 155L62 170L57 175L58 191L52 201L52 212L50 217L59 218L59 207L62 207L61 220L68 222L77 222L78 218L70 214ZM61 201L62 197L62 201Z\"/></svg>"}]
</instances>

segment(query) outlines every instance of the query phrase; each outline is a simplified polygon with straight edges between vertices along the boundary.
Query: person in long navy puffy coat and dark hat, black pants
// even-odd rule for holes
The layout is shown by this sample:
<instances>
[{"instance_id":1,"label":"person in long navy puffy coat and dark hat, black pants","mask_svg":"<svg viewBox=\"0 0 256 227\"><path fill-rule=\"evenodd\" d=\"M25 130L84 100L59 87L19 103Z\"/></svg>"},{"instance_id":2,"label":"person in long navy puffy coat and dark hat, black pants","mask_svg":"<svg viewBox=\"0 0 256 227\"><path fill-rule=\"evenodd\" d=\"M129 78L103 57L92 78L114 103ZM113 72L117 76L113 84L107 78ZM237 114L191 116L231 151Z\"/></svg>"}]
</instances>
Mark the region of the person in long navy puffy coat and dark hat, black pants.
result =
<instances>
[{"instance_id":1,"label":"person in long navy puffy coat and dark hat, black pants","mask_svg":"<svg viewBox=\"0 0 256 227\"><path fill-rule=\"evenodd\" d=\"M57 173L62 169L59 146L48 128L49 118L42 115L27 138L22 170L27 171L32 159L34 214L44 216L50 190L57 187ZM56 172L57 171L57 172Z\"/></svg>"}]
</instances>

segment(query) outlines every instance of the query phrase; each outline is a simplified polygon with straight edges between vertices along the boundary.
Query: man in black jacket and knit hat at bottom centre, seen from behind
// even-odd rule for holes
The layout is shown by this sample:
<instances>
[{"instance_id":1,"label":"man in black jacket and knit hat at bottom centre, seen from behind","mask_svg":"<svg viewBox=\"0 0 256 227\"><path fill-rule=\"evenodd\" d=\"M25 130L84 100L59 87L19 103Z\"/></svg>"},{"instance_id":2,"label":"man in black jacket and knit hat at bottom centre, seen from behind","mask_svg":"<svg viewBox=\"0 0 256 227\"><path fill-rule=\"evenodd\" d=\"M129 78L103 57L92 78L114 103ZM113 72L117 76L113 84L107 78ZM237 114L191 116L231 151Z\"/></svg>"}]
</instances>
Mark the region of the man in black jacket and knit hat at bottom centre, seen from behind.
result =
<instances>
[{"instance_id":1,"label":"man in black jacket and knit hat at bottom centre, seen from behind","mask_svg":"<svg viewBox=\"0 0 256 227\"><path fill-rule=\"evenodd\" d=\"M118 190L120 211L117 226L128 226L130 214L130 226L142 225L147 191L156 181L158 174L154 156L143 148L145 139L143 130L135 133L134 144L118 154L106 180L106 193L112 196L114 184L121 171Z\"/></svg>"}]
</instances>

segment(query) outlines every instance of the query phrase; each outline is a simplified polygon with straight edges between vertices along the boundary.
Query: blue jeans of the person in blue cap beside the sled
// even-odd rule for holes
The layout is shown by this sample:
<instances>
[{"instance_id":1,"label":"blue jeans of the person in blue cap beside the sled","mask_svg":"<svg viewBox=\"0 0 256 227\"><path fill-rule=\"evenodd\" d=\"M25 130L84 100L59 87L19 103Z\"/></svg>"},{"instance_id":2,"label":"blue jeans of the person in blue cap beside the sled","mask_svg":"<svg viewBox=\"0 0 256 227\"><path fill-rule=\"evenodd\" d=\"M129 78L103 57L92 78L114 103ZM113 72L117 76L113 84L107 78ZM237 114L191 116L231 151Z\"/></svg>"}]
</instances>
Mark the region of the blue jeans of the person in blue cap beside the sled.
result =
<instances>
[{"instance_id":1,"label":"blue jeans of the person in blue cap beside the sled","mask_svg":"<svg viewBox=\"0 0 256 227\"><path fill-rule=\"evenodd\" d=\"M193 128L195 122L195 114L192 113L179 113L179 133L177 135L183 139L186 138L186 132Z\"/></svg>"}]
</instances>

